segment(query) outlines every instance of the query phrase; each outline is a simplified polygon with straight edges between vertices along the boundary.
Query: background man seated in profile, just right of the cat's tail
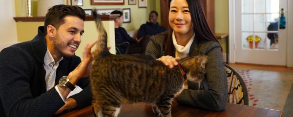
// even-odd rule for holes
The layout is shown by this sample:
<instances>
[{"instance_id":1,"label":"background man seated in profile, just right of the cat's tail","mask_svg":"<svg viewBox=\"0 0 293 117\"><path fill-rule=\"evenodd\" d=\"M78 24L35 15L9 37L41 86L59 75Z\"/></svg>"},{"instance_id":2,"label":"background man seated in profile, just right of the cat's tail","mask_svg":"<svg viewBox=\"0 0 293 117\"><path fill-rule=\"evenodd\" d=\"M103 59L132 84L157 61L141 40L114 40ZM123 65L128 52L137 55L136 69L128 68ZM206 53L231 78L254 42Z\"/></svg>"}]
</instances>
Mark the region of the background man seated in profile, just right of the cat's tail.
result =
<instances>
[{"instance_id":1,"label":"background man seated in profile, just right of the cat's tail","mask_svg":"<svg viewBox=\"0 0 293 117\"><path fill-rule=\"evenodd\" d=\"M120 50L121 54L137 54L137 53L141 53L139 52L134 52L135 50L140 50L140 49L134 49L133 46L135 46L135 44L137 44L138 42L140 42L140 39L133 39L131 38L126 30L121 27L123 24L123 13L121 11L115 10L113 12L111 12L111 14L118 14L119 16L116 18L116 20L114 20L115 22L115 45L116 47L118 47L118 49ZM124 42L128 42L129 45L129 53L126 53L127 44L123 44L120 46L117 46L121 43ZM116 54L119 54L116 52Z\"/></svg>"}]
</instances>

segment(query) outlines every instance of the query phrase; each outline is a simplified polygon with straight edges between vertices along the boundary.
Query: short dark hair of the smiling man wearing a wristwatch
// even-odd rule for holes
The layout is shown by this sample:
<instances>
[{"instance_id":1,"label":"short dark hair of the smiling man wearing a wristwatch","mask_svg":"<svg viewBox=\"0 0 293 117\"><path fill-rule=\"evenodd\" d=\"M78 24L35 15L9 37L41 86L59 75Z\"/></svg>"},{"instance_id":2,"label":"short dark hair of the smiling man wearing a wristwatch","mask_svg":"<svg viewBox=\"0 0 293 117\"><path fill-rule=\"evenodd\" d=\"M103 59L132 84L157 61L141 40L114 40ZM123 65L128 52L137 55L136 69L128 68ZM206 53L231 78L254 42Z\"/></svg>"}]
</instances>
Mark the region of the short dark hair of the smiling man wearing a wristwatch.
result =
<instances>
[{"instance_id":1,"label":"short dark hair of the smiling man wearing a wristwatch","mask_svg":"<svg viewBox=\"0 0 293 117\"><path fill-rule=\"evenodd\" d=\"M83 8L64 4L55 5L51 7L46 14L44 34L47 35L47 26L50 24L58 29L60 25L64 23L63 18L66 16L76 16L82 20L85 20L85 12Z\"/></svg>"}]
</instances>

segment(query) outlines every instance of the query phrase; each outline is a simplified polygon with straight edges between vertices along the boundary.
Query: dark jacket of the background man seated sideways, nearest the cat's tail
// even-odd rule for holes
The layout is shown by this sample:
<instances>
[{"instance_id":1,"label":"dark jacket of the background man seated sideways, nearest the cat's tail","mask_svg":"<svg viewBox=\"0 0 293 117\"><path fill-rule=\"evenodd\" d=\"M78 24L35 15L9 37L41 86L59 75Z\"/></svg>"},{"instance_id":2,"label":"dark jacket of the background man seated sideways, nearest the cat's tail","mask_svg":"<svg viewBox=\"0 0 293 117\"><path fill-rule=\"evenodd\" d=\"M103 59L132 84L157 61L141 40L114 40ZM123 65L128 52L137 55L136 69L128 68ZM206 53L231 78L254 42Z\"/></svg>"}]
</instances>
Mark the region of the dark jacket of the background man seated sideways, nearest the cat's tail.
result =
<instances>
[{"instance_id":1,"label":"dark jacket of the background man seated sideways, nearest the cat's tail","mask_svg":"<svg viewBox=\"0 0 293 117\"><path fill-rule=\"evenodd\" d=\"M129 42L130 45L137 43L136 39L131 38L123 27L115 28L115 45L123 42ZM127 45L121 45L118 47L122 54L126 53Z\"/></svg>"}]
</instances>

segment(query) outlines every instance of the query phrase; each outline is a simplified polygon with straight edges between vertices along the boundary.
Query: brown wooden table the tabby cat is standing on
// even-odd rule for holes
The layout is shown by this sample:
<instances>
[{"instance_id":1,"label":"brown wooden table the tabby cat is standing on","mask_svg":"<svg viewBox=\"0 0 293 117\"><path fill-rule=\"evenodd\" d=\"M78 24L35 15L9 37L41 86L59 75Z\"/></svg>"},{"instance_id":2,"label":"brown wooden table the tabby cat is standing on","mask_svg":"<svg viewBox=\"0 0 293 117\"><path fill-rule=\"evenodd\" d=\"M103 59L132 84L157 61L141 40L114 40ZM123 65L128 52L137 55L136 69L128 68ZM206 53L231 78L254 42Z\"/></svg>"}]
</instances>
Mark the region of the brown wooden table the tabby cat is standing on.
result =
<instances>
[{"instance_id":1,"label":"brown wooden table the tabby cat is standing on","mask_svg":"<svg viewBox=\"0 0 293 117\"><path fill-rule=\"evenodd\" d=\"M172 117L281 117L282 111L227 104L227 108L221 112L199 109L192 106L173 103ZM94 117L90 106L81 110L75 110L61 117ZM145 103L124 104L118 117L155 117L151 107Z\"/></svg>"}]
</instances>

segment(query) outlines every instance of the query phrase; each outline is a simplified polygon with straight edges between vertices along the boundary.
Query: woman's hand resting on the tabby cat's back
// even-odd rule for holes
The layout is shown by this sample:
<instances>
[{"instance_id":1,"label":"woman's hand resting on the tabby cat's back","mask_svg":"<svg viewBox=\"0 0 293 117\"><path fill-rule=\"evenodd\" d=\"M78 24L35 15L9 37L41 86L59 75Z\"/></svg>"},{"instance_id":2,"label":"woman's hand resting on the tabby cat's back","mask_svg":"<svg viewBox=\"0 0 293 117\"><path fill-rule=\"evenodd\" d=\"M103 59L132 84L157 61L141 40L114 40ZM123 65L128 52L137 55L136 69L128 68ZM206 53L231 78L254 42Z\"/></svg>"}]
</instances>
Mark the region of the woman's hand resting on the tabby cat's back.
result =
<instances>
[{"instance_id":1,"label":"woman's hand resting on the tabby cat's back","mask_svg":"<svg viewBox=\"0 0 293 117\"><path fill-rule=\"evenodd\" d=\"M177 60L179 60L179 57L173 58L172 56L162 56L161 58L157 59L162 61L166 66L168 66L170 69L174 66L178 65Z\"/></svg>"}]
</instances>

